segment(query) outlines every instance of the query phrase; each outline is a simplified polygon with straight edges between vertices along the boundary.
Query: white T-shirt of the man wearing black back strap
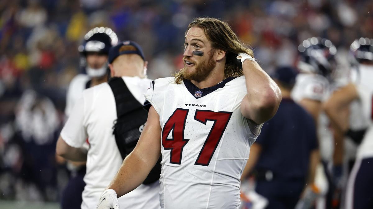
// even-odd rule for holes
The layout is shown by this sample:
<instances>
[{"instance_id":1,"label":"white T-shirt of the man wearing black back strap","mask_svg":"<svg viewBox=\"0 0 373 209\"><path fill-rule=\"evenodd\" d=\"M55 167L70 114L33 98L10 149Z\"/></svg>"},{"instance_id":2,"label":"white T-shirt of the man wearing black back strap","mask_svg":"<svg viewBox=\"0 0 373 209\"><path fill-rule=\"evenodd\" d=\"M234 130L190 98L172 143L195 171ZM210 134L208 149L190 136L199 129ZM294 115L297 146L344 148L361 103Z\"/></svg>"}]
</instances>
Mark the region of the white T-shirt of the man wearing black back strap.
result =
<instances>
[{"instance_id":1,"label":"white T-shirt of the man wearing black back strap","mask_svg":"<svg viewBox=\"0 0 373 209\"><path fill-rule=\"evenodd\" d=\"M151 80L139 77L122 77L129 91L140 102ZM84 176L82 209L92 209L98 204L103 190L109 185L122 164L122 157L113 135L117 119L114 94L108 83L83 91L62 129L63 140L71 147L82 147L89 137L87 172ZM121 209L159 209L159 182L141 184L137 189L120 197Z\"/></svg>"}]
</instances>

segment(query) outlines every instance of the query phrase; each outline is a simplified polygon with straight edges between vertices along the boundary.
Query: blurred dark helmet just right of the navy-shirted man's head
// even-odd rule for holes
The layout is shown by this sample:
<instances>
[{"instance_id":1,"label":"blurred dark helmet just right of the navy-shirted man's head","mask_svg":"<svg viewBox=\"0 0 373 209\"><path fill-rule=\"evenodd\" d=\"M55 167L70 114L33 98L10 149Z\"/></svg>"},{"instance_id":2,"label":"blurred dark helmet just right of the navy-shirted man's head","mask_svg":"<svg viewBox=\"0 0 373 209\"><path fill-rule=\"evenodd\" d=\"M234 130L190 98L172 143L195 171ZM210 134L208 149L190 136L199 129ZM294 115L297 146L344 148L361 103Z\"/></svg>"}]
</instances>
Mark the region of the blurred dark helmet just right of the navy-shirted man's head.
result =
<instances>
[{"instance_id":1,"label":"blurred dark helmet just right of the navy-shirted man's head","mask_svg":"<svg viewBox=\"0 0 373 209\"><path fill-rule=\"evenodd\" d=\"M336 68L334 55L337 50L332 42L325 38L312 37L298 46L300 71L329 77Z\"/></svg>"}]
</instances>

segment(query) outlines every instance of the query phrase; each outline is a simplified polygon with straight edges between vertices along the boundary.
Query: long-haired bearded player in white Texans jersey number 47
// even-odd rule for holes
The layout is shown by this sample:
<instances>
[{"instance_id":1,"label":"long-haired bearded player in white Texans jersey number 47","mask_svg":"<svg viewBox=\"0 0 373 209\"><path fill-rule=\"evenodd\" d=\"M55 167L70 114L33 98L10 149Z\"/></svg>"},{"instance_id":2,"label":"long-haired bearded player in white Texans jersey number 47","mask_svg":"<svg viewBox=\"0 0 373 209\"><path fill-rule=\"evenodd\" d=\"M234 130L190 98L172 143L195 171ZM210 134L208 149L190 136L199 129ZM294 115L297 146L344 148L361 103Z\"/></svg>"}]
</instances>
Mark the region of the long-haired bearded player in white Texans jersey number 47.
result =
<instances>
[{"instance_id":1,"label":"long-haired bearded player in white Texans jersey number 47","mask_svg":"<svg viewBox=\"0 0 373 209\"><path fill-rule=\"evenodd\" d=\"M160 155L161 208L239 208L242 169L280 90L218 19L189 24L183 60L181 71L145 94L144 131L97 208L117 209L117 197L136 188Z\"/></svg>"}]
</instances>

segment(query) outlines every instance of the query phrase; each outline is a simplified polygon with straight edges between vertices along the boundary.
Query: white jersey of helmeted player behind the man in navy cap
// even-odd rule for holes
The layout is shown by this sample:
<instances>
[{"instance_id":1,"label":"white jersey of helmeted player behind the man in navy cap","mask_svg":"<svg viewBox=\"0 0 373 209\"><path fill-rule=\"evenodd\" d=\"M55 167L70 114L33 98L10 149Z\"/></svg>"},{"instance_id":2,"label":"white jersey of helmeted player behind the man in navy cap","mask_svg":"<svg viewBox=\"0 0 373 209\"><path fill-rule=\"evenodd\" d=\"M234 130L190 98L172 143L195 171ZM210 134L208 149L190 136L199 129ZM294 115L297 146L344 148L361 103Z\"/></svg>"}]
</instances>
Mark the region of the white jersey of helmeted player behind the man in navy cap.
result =
<instances>
[{"instance_id":1,"label":"white jersey of helmeted player behind the man in navy cap","mask_svg":"<svg viewBox=\"0 0 373 209\"><path fill-rule=\"evenodd\" d=\"M70 115L75 102L82 96L84 89L87 89L88 81L90 81L90 77L86 74L78 74L70 81L66 94L66 116Z\"/></svg>"}]
</instances>

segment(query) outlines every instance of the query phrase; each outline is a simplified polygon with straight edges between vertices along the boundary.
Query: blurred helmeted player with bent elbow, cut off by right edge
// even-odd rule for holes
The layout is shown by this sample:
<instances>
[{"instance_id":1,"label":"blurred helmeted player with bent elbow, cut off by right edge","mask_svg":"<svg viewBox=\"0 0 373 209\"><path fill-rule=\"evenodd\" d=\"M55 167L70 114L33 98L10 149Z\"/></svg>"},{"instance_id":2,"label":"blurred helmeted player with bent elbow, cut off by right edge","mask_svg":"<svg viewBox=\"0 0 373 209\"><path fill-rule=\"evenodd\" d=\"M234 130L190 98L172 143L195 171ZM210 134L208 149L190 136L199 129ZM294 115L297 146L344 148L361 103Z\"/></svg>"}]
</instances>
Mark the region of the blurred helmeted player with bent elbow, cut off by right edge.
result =
<instances>
[{"instance_id":1,"label":"blurred helmeted player with bent elbow, cut off by right edge","mask_svg":"<svg viewBox=\"0 0 373 209\"><path fill-rule=\"evenodd\" d=\"M355 100L361 101L363 120L369 121L367 131L362 135L360 133L362 141L359 137L354 139L360 145L348 179L344 205L347 209L363 209L373 207L373 39L355 40L350 49L358 62L357 80L335 91L326 102L325 110L338 131L344 135L351 135L351 129L348 118L341 116L340 112Z\"/></svg>"}]
</instances>

